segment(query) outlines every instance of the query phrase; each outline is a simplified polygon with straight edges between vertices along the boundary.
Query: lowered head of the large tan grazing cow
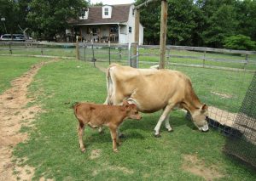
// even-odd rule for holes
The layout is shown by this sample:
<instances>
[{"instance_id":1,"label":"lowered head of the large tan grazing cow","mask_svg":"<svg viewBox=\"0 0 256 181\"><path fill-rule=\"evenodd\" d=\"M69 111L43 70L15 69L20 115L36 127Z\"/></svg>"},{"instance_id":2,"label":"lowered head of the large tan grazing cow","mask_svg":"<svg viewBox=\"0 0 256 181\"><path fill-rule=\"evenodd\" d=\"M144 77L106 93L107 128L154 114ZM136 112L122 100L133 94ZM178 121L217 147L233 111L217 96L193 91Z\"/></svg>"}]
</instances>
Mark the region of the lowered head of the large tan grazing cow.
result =
<instances>
[{"instance_id":1,"label":"lowered head of the large tan grazing cow","mask_svg":"<svg viewBox=\"0 0 256 181\"><path fill-rule=\"evenodd\" d=\"M201 108L196 109L191 116L192 121L194 122L195 126L198 127L199 130L201 130L202 132L208 131L208 106L206 104L202 105Z\"/></svg>"}]
</instances>

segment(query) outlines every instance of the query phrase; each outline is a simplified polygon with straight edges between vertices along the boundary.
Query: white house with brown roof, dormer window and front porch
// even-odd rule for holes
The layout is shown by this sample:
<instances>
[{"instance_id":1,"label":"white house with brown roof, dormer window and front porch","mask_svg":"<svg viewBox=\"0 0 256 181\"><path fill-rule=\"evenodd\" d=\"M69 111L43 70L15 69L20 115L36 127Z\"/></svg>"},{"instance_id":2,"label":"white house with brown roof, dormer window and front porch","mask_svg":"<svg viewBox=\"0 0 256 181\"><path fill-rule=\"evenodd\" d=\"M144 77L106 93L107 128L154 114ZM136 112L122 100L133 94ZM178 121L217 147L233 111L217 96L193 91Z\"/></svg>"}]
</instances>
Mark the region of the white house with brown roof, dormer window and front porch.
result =
<instances>
[{"instance_id":1,"label":"white house with brown roof, dormer window and front porch","mask_svg":"<svg viewBox=\"0 0 256 181\"><path fill-rule=\"evenodd\" d=\"M84 8L79 20L70 20L74 33L86 42L134 41L134 4L103 5ZM143 25L139 25L139 44L143 44Z\"/></svg>"}]
</instances>

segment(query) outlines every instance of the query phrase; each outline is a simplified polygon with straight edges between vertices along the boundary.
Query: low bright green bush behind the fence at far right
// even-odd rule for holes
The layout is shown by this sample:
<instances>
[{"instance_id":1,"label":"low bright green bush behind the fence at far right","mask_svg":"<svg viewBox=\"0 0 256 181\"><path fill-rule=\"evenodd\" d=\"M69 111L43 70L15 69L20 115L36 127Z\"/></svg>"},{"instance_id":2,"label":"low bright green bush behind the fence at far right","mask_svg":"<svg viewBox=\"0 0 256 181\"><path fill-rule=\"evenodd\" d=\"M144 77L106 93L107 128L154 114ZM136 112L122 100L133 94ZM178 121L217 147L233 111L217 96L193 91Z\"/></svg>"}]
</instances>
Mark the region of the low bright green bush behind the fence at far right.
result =
<instances>
[{"instance_id":1,"label":"low bright green bush behind the fence at far right","mask_svg":"<svg viewBox=\"0 0 256 181\"><path fill-rule=\"evenodd\" d=\"M256 42L252 41L250 37L246 37L244 35L235 35L235 36L225 38L224 48L255 50Z\"/></svg>"}]
</instances>

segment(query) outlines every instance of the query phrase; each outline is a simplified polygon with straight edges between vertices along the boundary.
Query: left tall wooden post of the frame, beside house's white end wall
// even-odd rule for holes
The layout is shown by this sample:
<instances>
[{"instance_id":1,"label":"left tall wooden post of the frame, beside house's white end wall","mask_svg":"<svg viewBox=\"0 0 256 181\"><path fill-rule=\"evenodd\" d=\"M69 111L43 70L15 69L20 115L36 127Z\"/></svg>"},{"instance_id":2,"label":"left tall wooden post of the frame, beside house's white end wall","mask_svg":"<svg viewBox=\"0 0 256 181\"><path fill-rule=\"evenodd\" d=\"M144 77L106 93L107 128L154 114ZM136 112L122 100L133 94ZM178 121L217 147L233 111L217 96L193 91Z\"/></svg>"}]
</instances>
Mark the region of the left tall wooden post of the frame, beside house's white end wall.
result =
<instances>
[{"instance_id":1,"label":"left tall wooden post of the frame, beside house's white end wall","mask_svg":"<svg viewBox=\"0 0 256 181\"><path fill-rule=\"evenodd\" d=\"M140 11L139 9L135 9L135 27L134 27L134 42L137 42L139 44L140 39ZM132 30L131 30L132 31ZM137 44L134 44L133 47L133 55L137 55ZM135 62L137 59L132 59L131 66L136 67L137 63Z\"/></svg>"}]
</instances>

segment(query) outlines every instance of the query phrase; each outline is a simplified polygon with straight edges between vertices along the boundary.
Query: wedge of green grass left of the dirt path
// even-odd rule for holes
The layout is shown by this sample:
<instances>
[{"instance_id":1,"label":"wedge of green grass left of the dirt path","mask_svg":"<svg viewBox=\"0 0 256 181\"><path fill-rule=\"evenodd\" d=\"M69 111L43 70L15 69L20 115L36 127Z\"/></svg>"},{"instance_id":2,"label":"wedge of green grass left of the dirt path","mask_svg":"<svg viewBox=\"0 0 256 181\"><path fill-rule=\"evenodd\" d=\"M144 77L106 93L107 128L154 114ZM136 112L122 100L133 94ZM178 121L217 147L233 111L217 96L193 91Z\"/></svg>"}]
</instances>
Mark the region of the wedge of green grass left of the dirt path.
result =
<instances>
[{"instance_id":1,"label":"wedge of green grass left of the dirt path","mask_svg":"<svg viewBox=\"0 0 256 181\"><path fill-rule=\"evenodd\" d=\"M42 58L1 56L0 59L0 93L10 88L10 82L28 71Z\"/></svg>"}]
</instances>

